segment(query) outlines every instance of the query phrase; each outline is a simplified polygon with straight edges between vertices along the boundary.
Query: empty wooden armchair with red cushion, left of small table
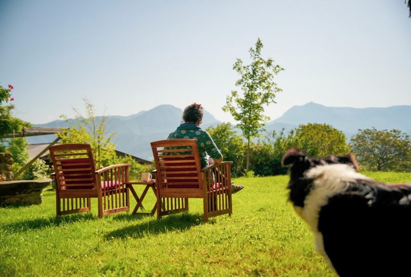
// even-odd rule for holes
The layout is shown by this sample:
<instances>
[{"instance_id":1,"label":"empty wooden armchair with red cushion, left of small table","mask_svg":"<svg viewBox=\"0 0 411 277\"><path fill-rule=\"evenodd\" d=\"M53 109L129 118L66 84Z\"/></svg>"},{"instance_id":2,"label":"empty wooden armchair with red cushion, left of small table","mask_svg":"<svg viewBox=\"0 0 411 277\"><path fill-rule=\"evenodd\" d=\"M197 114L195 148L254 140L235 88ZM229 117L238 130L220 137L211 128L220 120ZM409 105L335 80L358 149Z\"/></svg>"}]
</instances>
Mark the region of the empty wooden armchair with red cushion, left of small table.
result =
<instances>
[{"instance_id":1,"label":"empty wooden armchair with red cushion, left of small table","mask_svg":"<svg viewBox=\"0 0 411 277\"><path fill-rule=\"evenodd\" d=\"M129 209L129 164L96 171L89 144L62 144L49 148L54 167L57 215L91 210L98 199L99 217Z\"/></svg>"}]
</instances>

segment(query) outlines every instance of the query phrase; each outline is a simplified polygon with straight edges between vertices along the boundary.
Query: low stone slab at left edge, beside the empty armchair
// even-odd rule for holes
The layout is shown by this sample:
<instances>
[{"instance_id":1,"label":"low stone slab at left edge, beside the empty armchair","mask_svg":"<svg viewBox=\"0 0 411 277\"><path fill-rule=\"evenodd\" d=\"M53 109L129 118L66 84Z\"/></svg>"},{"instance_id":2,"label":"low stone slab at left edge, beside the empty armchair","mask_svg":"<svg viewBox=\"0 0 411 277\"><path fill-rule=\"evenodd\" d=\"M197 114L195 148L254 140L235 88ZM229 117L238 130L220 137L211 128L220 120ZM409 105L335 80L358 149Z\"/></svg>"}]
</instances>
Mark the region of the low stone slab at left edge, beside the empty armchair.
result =
<instances>
[{"instance_id":1,"label":"low stone slab at left edge, beside the empty armchair","mask_svg":"<svg viewBox=\"0 0 411 277\"><path fill-rule=\"evenodd\" d=\"M51 184L51 179L0 182L0 205L42 204L42 191Z\"/></svg>"}]
</instances>

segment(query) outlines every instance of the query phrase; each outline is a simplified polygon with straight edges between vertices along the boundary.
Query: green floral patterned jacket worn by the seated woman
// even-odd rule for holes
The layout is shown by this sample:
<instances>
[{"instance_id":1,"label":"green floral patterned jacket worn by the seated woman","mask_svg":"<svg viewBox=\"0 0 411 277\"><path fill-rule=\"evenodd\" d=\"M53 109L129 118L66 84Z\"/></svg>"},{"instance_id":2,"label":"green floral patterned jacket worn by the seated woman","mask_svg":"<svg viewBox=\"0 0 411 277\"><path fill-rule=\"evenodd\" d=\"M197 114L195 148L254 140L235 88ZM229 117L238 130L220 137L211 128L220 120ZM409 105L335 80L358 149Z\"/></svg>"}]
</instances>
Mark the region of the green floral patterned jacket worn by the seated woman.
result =
<instances>
[{"instance_id":1,"label":"green floral patterned jacket worn by the seated woman","mask_svg":"<svg viewBox=\"0 0 411 277\"><path fill-rule=\"evenodd\" d=\"M182 123L175 131L169 134L167 140L173 138L190 138L196 140L202 167L209 165L207 155L212 157L213 160L218 160L222 156L210 134L207 131L202 130L196 124Z\"/></svg>"}]
</instances>

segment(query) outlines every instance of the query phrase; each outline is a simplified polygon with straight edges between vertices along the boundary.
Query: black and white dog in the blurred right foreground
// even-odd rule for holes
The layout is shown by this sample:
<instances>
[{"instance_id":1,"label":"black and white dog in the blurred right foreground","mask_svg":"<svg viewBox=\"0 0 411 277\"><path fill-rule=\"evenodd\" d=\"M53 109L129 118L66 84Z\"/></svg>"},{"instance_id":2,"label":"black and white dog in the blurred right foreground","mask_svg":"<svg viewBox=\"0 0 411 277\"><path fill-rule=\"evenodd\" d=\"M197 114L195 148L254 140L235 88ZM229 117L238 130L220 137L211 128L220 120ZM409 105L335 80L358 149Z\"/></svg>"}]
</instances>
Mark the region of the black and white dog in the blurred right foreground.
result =
<instances>
[{"instance_id":1,"label":"black and white dog in the blurred right foreground","mask_svg":"<svg viewBox=\"0 0 411 277\"><path fill-rule=\"evenodd\" d=\"M319 159L293 148L283 165L290 201L335 272L411 276L411 183L373 181L351 154Z\"/></svg>"}]
</instances>

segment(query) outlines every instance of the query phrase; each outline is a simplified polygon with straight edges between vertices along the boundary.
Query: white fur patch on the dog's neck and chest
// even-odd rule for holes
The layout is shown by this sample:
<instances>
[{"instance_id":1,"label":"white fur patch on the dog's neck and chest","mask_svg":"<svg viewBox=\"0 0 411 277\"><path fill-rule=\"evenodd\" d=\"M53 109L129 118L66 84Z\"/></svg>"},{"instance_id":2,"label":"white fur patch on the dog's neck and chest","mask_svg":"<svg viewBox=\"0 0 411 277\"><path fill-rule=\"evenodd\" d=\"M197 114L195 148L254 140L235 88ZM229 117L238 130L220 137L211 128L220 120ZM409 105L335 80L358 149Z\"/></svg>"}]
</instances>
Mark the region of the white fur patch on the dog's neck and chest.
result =
<instances>
[{"instance_id":1,"label":"white fur patch on the dog's neck and chest","mask_svg":"<svg viewBox=\"0 0 411 277\"><path fill-rule=\"evenodd\" d=\"M310 226L315 240L315 249L325 257L332 267L323 243L323 235L318 230L319 213L328 199L341 192L349 182L356 179L369 179L358 173L352 166L346 164L331 164L316 166L305 173L306 177L313 179L313 187L304 201L304 208L298 214Z\"/></svg>"}]
</instances>

